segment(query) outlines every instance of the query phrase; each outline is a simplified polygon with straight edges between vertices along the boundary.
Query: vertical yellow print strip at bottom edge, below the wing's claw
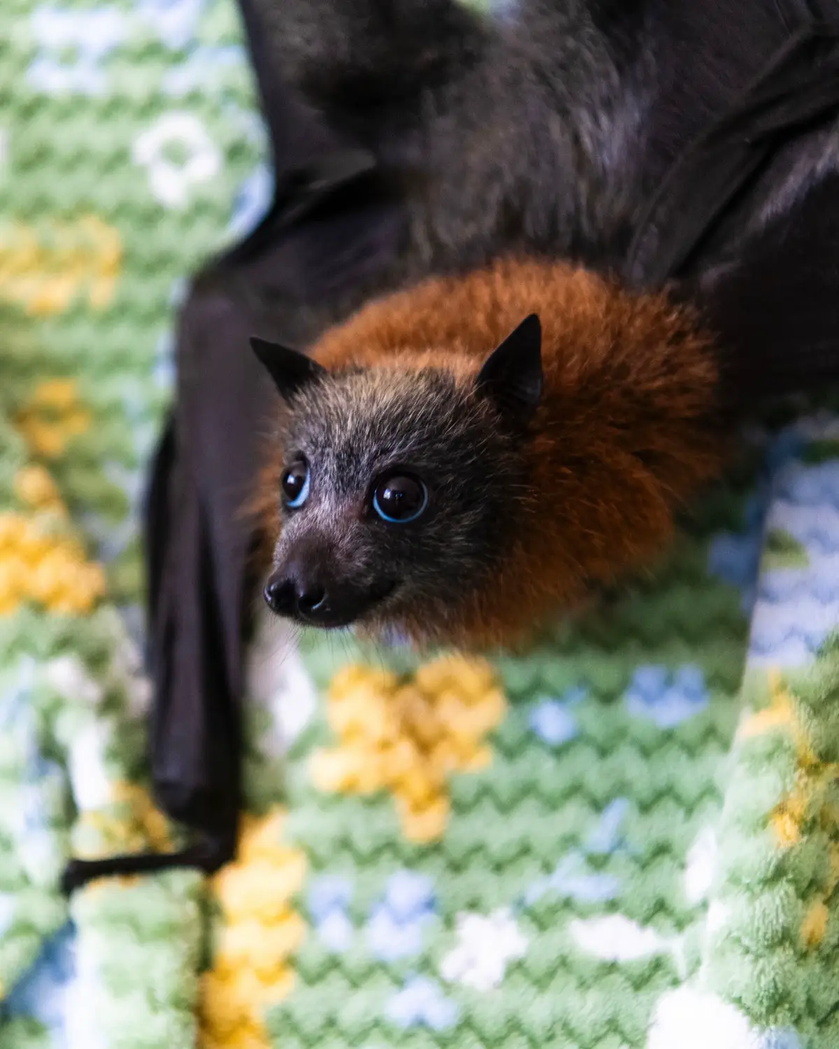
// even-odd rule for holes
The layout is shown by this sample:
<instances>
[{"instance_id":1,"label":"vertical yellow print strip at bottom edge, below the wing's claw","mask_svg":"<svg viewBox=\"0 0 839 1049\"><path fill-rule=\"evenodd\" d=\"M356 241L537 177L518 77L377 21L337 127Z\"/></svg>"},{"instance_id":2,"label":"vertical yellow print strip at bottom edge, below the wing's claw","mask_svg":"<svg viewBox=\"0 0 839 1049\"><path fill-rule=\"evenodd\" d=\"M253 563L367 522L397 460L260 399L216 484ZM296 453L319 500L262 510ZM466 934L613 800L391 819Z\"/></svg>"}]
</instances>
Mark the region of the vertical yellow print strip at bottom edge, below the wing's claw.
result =
<instances>
[{"instance_id":1,"label":"vertical yellow print strip at bottom edge, below the wing's claw","mask_svg":"<svg viewBox=\"0 0 839 1049\"><path fill-rule=\"evenodd\" d=\"M292 990L291 959L305 936L292 900L306 861L283 844L284 820L281 809L243 816L238 857L213 878L223 917L213 968L202 978L200 1049L272 1049L265 1012Z\"/></svg>"}]
</instances>

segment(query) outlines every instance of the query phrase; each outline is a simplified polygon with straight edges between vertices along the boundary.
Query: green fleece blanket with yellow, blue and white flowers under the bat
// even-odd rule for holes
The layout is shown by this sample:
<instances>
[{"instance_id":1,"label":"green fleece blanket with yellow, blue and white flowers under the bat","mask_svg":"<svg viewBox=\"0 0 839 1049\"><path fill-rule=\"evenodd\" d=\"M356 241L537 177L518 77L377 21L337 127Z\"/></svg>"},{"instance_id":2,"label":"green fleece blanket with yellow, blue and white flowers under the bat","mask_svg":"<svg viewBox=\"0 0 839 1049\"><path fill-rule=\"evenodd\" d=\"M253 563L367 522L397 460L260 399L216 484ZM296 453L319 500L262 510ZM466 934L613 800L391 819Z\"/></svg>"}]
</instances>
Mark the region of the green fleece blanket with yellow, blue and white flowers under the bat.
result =
<instances>
[{"instance_id":1,"label":"green fleece blanket with yellow, blue and white flowers under the bat","mask_svg":"<svg viewBox=\"0 0 839 1049\"><path fill-rule=\"evenodd\" d=\"M0 9L0 1047L839 1046L839 414L524 658L251 654L238 857L166 848L137 508L185 279L266 207L232 0Z\"/></svg>"}]
</instances>

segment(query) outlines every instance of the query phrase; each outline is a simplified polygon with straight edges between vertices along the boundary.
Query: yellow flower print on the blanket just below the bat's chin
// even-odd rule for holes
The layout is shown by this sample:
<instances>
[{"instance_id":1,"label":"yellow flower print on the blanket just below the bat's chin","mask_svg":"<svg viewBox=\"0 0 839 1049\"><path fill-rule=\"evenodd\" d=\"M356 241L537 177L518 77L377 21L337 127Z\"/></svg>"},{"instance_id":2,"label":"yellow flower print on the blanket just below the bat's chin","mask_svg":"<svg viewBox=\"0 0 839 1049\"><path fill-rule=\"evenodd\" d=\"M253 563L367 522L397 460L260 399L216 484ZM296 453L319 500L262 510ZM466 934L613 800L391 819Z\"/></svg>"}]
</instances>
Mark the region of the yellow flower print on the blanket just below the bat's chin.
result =
<instances>
[{"instance_id":1,"label":"yellow flower print on the blanket just below the bat's chin","mask_svg":"<svg viewBox=\"0 0 839 1049\"><path fill-rule=\"evenodd\" d=\"M327 718L336 747L311 756L324 791L390 790L405 836L438 840L449 820L447 777L492 762L485 736L504 716L507 701L489 663L447 656L413 680L353 664L332 680Z\"/></svg>"}]
</instances>

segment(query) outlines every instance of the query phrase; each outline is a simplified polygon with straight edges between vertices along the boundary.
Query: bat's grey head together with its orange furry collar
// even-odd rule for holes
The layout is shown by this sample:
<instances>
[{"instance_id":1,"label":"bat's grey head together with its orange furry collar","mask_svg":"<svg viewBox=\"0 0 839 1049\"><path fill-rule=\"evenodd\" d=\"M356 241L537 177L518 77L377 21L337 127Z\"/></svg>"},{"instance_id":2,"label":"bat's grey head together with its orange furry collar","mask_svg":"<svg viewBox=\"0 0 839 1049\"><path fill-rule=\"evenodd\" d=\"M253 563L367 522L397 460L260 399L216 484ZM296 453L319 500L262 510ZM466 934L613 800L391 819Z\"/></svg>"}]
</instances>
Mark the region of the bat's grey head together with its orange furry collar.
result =
<instances>
[{"instance_id":1,"label":"bat's grey head together with its orange furry collar","mask_svg":"<svg viewBox=\"0 0 839 1049\"><path fill-rule=\"evenodd\" d=\"M695 312L564 262L429 279L311 360L255 348L285 402L265 595L301 623L517 644L649 562L722 461Z\"/></svg>"}]
</instances>

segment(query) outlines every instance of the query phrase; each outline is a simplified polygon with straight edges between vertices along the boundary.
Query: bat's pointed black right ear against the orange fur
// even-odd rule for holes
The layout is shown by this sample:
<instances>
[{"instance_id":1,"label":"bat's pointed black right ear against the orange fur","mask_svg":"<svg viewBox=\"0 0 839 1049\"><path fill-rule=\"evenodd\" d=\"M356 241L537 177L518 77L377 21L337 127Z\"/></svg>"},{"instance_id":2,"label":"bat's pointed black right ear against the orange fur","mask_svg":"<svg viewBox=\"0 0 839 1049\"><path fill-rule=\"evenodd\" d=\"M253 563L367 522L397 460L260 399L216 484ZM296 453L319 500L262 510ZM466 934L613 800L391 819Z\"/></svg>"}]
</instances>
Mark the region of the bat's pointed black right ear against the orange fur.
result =
<instances>
[{"instance_id":1,"label":"bat's pointed black right ear against the orange fur","mask_svg":"<svg viewBox=\"0 0 839 1049\"><path fill-rule=\"evenodd\" d=\"M531 314L483 362L476 387L503 415L525 425L539 406L542 385L542 326Z\"/></svg>"}]
</instances>

